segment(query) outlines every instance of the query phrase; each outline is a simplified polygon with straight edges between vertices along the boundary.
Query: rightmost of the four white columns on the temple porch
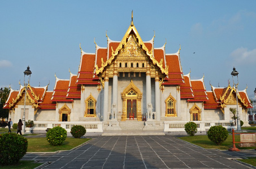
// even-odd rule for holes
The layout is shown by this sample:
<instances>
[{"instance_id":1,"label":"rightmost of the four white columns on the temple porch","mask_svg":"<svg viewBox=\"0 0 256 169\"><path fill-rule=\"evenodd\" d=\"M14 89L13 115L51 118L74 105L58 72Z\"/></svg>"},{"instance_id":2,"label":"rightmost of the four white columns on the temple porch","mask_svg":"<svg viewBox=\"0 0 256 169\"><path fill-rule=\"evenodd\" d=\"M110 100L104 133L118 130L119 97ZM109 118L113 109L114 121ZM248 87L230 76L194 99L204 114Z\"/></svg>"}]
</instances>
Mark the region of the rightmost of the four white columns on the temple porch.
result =
<instances>
[{"instance_id":1,"label":"rightmost of the four white columns on the temple porch","mask_svg":"<svg viewBox=\"0 0 256 169\"><path fill-rule=\"evenodd\" d=\"M159 74L155 71L155 113L157 121L160 121L160 88Z\"/></svg>"}]
</instances>

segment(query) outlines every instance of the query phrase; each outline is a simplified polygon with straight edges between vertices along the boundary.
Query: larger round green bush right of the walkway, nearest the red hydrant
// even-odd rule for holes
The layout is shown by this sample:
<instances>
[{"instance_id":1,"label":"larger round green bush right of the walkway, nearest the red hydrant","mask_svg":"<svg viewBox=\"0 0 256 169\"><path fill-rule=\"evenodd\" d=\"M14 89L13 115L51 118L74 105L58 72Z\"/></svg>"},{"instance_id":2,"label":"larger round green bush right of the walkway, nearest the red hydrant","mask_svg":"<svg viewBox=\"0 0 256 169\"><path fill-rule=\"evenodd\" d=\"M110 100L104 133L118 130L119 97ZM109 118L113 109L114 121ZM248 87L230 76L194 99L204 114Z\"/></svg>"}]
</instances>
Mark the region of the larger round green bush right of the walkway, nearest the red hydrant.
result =
<instances>
[{"instance_id":1,"label":"larger round green bush right of the walkway, nearest the red hydrant","mask_svg":"<svg viewBox=\"0 0 256 169\"><path fill-rule=\"evenodd\" d=\"M220 145L228 138L228 131L222 126L212 126L207 132L207 136L213 143Z\"/></svg>"}]
</instances>

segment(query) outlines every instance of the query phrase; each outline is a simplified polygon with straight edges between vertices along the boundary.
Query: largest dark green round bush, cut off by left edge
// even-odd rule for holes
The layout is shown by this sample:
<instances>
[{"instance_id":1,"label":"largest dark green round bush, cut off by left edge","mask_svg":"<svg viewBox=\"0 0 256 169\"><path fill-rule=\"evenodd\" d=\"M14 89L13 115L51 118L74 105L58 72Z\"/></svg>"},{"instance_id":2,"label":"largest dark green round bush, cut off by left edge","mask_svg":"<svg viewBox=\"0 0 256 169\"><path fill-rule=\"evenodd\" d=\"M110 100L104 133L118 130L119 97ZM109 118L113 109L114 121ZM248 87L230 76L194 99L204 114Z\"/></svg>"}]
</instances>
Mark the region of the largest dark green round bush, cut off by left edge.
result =
<instances>
[{"instance_id":1,"label":"largest dark green round bush, cut off by left edge","mask_svg":"<svg viewBox=\"0 0 256 169\"><path fill-rule=\"evenodd\" d=\"M0 135L0 163L15 164L27 153L28 140L13 132Z\"/></svg>"}]
</instances>

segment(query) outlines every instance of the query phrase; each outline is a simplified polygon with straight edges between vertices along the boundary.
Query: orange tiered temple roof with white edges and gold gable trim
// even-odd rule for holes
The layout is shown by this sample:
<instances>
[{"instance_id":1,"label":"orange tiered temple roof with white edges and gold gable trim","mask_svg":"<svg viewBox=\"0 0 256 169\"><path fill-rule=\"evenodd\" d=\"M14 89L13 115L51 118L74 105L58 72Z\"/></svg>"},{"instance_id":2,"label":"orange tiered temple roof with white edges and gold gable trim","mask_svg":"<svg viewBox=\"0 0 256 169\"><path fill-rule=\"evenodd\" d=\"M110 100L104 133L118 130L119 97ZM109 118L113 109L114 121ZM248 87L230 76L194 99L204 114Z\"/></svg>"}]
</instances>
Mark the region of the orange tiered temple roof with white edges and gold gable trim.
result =
<instances>
[{"instance_id":1,"label":"orange tiered temple roof with white edges and gold gable trim","mask_svg":"<svg viewBox=\"0 0 256 169\"><path fill-rule=\"evenodd\" d=\"M205 109L223 108L233 95L234 88L216 88L207 91L202 79L190 79L190 73L184 75L180 62L180 48L175 54L166 54L165 45L154 47L154 37L150 41L142 41L133 21L125 33L122 41L112 41L106 34L107 47L99 47L96 44L95 53L86 53L81 47L80 65L77 75L70 73L70 79L59 79L56 77L54 91L47 91L46 87L28 87L28 97L36 108L55 109L58 101L73 101L81 98L82 85L98 85L101 83L100 75L110 66L118 57L120 51L127 43L129 36L136 39L136 45L144 51L151 65L155 66L162 73L164 86L173 85L180 87L180 98L187 101L204 101ZM96 42L94 42L96 43ZM21 99L24 93L24 87L20 86L19 91L11 89L4 108L14 108L15 104ZM239 100L243 106L251 106L248 95L245 91L239 91Z\"/></svg>"}]
</instances>

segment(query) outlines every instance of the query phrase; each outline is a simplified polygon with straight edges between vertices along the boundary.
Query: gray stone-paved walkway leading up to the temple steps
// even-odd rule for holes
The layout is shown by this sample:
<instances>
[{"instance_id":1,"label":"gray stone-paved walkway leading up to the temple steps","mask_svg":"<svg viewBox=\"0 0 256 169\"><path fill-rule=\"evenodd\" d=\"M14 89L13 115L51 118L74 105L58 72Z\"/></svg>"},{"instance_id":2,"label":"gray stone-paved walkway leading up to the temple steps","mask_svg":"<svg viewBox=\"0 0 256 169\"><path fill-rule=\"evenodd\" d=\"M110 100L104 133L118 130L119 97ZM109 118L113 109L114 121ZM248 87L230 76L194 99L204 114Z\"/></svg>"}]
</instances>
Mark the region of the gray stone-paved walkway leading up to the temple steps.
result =
<instances>
[{"instance_id":1,"label":"gray stone-paved walkway leading up to the temple steps","mask_svg":"<svg viewBox=\"0 0 256 169\"><path fill-rule=\"evenodd\" d=\"M255 150L203 149L175 136L92 136L70 151L27 153L39 168L256 168L233 159L256 157Z\"/></svg>"}]
</instances>

